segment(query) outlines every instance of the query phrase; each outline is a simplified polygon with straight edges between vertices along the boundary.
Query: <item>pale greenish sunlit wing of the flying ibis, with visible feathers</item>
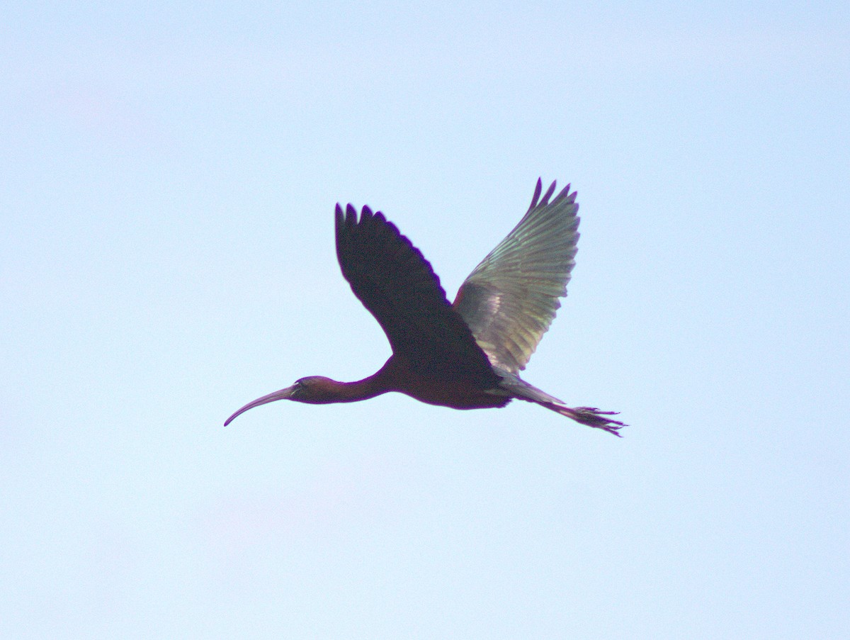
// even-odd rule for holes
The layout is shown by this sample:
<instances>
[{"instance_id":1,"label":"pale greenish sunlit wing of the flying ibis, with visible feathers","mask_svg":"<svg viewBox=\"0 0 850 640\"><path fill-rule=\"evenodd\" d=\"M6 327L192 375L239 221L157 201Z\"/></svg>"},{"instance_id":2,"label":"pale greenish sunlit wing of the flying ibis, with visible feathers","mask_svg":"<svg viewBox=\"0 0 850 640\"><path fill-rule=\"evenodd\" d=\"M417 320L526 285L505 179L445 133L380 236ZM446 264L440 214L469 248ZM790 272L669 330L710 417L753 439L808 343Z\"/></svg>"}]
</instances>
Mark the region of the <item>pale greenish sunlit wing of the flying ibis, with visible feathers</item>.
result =
<instances>
[{"instance_id":1,"label":"pale greenish sunlit wing of the flying ibis, with visible feathers","mask_svg":"<svg viewBox=\"0 0 850 640\"><path fill-rule=\"evenodd\" d=\"M570 185L540 197L537 188L519 225L469 274L454 307L494 366L525 369L567 294L579 239L579 210Z\"/></svg>"}]
</instances>

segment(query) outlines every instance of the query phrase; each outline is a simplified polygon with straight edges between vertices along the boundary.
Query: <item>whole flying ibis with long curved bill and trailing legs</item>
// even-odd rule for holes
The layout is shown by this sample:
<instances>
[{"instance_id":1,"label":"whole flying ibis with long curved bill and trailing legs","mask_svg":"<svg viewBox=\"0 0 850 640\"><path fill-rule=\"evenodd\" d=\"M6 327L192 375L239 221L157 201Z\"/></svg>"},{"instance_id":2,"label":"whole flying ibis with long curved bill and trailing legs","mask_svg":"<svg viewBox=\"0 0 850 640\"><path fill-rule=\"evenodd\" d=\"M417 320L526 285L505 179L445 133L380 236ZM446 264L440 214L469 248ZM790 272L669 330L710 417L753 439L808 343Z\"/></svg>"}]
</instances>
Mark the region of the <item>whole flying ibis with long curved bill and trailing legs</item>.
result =
<instances>
[{"instance_id":1,"label":"whole flying ibis with long curved bill and trailing legs","mask_svg":"<svg viewBox=\"0 0 850 640\"><path fill-rule=\"evenodd\" d=\"M337 204L337 259L354 295L381 325L393 354L376 374L356 382L319 375L258 397L231 415L275 400L352 403L399 391L452 409L504 407L513 399L536 403L582 425L616 436L615 411L568 407L519 378L558 298L567 294L579 239L575 191L542 193L513 231L476 266L449 303L422 252L378 211L360 215Z\"/></svg>"}]
</instances>

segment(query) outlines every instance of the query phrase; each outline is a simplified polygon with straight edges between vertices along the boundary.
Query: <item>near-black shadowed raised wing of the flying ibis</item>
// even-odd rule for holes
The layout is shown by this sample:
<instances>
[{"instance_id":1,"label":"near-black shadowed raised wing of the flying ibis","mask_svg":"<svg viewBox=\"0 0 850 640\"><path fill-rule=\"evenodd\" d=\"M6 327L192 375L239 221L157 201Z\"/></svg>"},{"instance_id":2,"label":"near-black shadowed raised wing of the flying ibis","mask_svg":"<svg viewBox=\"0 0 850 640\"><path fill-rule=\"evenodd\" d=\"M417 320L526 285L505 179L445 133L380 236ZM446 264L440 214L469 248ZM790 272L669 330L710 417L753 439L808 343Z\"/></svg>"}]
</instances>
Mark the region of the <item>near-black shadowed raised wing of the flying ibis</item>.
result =
<instances>
[{"instance_id":1,"label":"near-black shadowed raised wing of the flying ibis","mask_svg":"<svg viewBox=\"0 0 850 640\"><path fill-rule=\"evenodd\" d=\"M378 211L337 204L337 258L354 295L381 325L396 357L418 374L490 389L499 376L451 308L422 252Z\"/></svg>"}]
</instances>

